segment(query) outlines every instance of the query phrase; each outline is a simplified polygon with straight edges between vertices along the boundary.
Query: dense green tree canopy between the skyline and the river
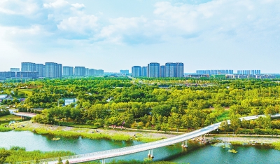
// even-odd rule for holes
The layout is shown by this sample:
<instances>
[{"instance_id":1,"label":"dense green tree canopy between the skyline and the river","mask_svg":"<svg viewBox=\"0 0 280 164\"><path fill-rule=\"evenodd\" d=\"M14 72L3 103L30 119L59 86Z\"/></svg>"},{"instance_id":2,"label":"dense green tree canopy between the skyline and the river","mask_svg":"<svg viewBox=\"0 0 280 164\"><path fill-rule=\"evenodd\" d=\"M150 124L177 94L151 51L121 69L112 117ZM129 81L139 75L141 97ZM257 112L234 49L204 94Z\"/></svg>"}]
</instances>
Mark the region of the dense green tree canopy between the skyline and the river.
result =
<instances>
[{"instance_id":1,"label":"dense green tree canopy between the skyline and the river","mask_svg":"<svg viewBox=\"0 0 280 164\"><path fill-rule=\"evenodd\" d=\"M16 104L20 111L47 109L34 118L40 123L201 128L223 118L276 114L280 109L280 86L275 79L62 78L0 83L0 90L26 97L24 104L2 104ZM63 99L70 97L78 101L62 107ZM251 128L279 128L274 121L266 126L256 122ZM238 123L232 130L239 128L248 125Z\"/></svg>"}]
</instances>

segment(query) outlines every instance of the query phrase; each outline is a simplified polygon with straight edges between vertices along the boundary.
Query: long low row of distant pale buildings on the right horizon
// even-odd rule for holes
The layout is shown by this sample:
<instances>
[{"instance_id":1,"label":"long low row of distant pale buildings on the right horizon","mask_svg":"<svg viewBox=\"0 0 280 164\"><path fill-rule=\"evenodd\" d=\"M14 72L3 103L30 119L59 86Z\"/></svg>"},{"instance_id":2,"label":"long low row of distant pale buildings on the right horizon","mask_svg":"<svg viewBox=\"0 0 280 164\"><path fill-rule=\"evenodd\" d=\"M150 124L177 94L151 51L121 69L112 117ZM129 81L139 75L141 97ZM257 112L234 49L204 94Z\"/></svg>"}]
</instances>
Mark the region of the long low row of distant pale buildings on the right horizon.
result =
<instances>
[{"instance_id":1,"label":"long low row of distant pale buildings on the right horizon","mask_svg":"<svg viewBox=\"0 0 280 164\"><path fill-rule=\"evenodd\" d=\"M234 74L231 69L220 69L220 70L197 70L196 74L207 74L207 75L216 75L216 74ZM255 75L260 74L260 70L237 70L237 74L249 74Z\"/></svg>"}]
</instances>

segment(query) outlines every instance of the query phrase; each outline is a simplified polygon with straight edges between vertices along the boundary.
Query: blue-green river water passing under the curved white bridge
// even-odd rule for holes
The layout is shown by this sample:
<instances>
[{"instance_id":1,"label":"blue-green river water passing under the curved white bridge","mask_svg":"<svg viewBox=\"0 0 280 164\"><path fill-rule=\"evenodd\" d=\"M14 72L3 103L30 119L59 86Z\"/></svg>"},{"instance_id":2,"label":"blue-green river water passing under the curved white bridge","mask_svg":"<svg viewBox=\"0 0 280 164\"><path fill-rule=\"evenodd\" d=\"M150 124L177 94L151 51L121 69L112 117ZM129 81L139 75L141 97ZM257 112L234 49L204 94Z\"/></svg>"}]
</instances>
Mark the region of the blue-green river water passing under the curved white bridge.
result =
<instances>
[{"instance_id":1,"label":"blue-green river water passing under the curved white bridge","mask_svg":"<svg viewBox=\"0 0 280 164\"><path fill-rule=\"evenodd\" d=\"M124 146L141 144L141 142L115 142L106 139L83 139L61 137L52 141L55 136L36 135L29 131L0 132L0 147L23 146L27 151L72 151L76 154L91 153ZM176 163L280 163L280 151L269 149L267 146L233 146L238 153L230 153L228 149L204 145L197 142L188 142L188 149L182 149L181 143L155 149L154 160L168 160ZM121 156L116 159L144 160L148 152L135 153Z\"/></svg>"}]
</instances>

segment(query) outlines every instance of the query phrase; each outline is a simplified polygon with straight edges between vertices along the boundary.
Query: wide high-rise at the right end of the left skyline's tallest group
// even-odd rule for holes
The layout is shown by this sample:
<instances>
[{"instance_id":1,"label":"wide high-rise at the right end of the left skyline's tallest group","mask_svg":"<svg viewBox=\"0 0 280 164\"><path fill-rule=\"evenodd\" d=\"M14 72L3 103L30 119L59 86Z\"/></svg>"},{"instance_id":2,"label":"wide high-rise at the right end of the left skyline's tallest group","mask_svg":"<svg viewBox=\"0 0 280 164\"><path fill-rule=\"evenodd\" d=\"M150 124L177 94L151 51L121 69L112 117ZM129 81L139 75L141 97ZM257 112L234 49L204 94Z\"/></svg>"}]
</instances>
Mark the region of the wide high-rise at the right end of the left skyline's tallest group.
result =
<instances>
[{"instance_id":1,"label":"wide high-rise at the right end of the left skyline's tallest group","mask_svg":"<svg viewBox=\"0 0 280 164\"><path fill-rule=\"evenodd\" d=\"M60 78L62 77L62 64L56 62L45 62L45 77Z\"/></svg>"}]
</instances>

